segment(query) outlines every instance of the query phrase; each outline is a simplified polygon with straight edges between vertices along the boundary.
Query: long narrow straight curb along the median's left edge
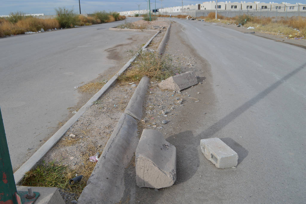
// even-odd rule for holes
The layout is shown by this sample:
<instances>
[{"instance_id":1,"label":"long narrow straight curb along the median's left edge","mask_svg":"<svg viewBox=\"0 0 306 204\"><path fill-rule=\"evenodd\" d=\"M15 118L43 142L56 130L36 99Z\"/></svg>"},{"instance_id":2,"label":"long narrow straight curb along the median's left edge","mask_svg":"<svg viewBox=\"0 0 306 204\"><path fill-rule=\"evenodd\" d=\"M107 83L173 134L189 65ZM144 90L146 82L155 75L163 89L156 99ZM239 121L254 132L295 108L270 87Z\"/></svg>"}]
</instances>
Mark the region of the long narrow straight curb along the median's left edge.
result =
<instances>
[{"instance_id":1,"label":"long narrow straight curb along the median's left edge","mask_svg":"<svg viewBox=\"0 0 306 204\"><path fill-rule=\"evenodd\" d=\"M142 47L142 49L146 48L157 34L159 34L159 31L153 35L153 37ZM45 142L23 165L21 165L21 167L14 173L15 184L18 184L24 177L24 174L30 171L37 164L37 162L43 158L43 156L58 142L58 140L62 138L65 132L67 132L69 128L79 119L79 117L85 113L93 102L98 100L101 95L103 95L103 93L114 84L118 76L120 76L131 65L138 55L139 52L137 52L134 57L132 57L132 59L130 59L93 97L91 97L73 117L71 117L57 132L55 132L55 134L52 135L50 139L48 139L47 142Z\"/></svg>"}]
</instances>

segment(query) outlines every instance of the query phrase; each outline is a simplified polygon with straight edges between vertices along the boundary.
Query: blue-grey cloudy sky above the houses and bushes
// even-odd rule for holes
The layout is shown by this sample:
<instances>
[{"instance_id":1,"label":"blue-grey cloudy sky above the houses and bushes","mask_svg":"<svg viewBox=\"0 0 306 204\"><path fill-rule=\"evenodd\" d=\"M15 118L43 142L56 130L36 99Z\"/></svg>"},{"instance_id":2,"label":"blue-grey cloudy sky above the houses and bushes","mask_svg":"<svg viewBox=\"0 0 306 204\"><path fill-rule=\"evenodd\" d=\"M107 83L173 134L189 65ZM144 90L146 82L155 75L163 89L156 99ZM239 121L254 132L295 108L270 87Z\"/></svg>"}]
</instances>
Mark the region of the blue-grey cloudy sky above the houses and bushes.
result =
<instances>
[{"instance_id":1,"label":"blue-grey cloudy sky above the houses and bushes","mask_svg":"<svg viewBox=\"0 0 306 204\"><path fill-rule=\"evenodd\" d=\"M184 5L197 4L206 2L209 0L202 1L187 1L183 0ZM225 0L219 0L220 2L225 2ZM232 0L231 2L240 2L241 0ZM245 1L245 0L244 0ZM247 2L253 2L250 0ZM272 0L260 1L260 2L271 2ZM274 2L282 2L274 1ZM155 0L150 0L151 9L155 8ZM285 1L288 3L301 2L305 3L306 1L297 1L297 0L288 0ZM146 0L114 0L114 1L100 1L100 0L80 0L81 13L93 13L95 11L129 11L129 10L138 10L137 4L140 5L140 9L147 9ZM0 0L0 15L9 15L11 12L21 11L26 14L30 13L44 13L45 15L54 15L55 8L65 7L68 9L73 8L76 13L79 12L79 1L78 0ZM165 8L172 6L181 6L181 0L163 0L162 6L161 1L156 0L156 8Z\"/></svg>"}]
</instances>

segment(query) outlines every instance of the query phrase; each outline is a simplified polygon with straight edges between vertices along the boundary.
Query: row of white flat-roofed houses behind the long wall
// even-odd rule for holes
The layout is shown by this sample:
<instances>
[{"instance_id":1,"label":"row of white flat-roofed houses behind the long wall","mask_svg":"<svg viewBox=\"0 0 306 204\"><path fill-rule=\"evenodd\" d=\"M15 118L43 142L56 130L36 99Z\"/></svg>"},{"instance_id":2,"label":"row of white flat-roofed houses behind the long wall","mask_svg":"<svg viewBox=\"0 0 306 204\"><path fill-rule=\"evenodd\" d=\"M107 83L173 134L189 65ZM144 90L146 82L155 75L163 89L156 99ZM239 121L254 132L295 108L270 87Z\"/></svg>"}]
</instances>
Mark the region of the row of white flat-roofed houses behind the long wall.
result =
<instances>
[{"instance_id":1,"label":"row of white flat-roofed houses behind the long wall","mask_svg":"<svg viewBox=\"0 0 306 204\"><path fill-rule=\"evenodd\" d=\"M301 11L306 12L306 4L302 3L295 3L290 4L287 2L282 3L262 3L262 2L218 2L218 9L219 10L256 10L256 11L278 11L278 12L285 12L285 11ZM209 1L209 2L203 2L201 4L191 4L183 6L183 11L186 12L188 10L215 10L216 9L216 2L215 1ZM152 10L151 10L152 12ZM182 6L174 6L174 7L167 7L167 8L159 8L158 9L159 14L163 13L174 13L182 12ZM120 12L120 15L135 15L136 13L139 13L138 10L134 11L123 11ZM147 10L140 10L140 14L147 13Z\"/></svg>"}]
</instances>

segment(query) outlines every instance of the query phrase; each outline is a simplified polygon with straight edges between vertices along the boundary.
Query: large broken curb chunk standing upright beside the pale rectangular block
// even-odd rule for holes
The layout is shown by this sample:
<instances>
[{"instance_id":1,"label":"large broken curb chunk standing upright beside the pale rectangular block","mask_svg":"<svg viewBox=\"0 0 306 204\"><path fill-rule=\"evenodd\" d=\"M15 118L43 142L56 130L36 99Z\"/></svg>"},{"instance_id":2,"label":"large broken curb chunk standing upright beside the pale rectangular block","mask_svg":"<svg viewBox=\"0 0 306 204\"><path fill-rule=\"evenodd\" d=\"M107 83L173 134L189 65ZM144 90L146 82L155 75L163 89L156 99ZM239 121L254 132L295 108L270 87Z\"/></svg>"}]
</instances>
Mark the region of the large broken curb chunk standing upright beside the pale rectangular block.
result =
<instances>
[{"instance_id":1,"label":"large broken curb chunk standing upright beside the pale rectangular block","mask_svg":"<svg viewBox=\"0 0 306 204\"><path fill-rule=\"evenodd\" d=\"M159 189L174 184L176 148L162 133L144 129L135 154L137 186Z\"/></svg>"}]
</instances>

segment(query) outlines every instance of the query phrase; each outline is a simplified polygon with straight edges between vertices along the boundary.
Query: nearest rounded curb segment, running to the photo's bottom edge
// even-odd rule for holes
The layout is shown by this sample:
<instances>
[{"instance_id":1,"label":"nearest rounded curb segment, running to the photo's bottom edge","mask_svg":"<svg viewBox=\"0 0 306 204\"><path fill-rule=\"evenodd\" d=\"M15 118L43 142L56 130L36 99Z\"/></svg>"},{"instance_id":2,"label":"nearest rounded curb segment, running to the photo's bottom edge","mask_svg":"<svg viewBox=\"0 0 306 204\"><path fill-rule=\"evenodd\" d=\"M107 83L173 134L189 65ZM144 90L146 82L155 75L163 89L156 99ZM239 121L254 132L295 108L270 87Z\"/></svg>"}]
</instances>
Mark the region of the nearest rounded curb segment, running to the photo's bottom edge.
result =
<instances>
[{"instance_id":1,"label":"nearest rounded curb segment, running to the photo's bottom edge","mask_svg":"<svg viewBox=\"0 0 306 204\"><path fill-rule=\"evenodd\" d=\"M78 203L118 203L124 195L124 170L138 144L137 121L122 113L87 181Z\"/></svg>"}]
</instances>

